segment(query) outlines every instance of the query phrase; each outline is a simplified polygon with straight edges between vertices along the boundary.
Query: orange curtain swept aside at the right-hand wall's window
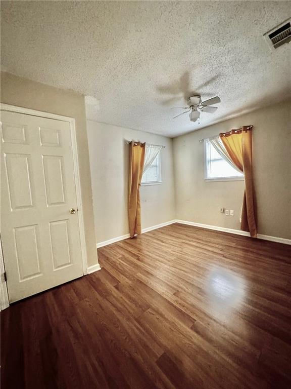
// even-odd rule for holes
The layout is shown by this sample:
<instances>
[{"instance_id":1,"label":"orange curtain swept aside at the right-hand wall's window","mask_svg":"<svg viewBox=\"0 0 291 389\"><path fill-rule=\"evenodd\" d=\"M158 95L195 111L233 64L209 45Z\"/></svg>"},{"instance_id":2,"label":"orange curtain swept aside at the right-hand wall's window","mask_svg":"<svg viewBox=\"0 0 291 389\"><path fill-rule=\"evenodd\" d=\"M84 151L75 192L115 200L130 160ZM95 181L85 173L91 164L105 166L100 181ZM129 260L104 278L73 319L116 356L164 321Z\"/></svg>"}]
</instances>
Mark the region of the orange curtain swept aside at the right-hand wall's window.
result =
<instances>
[{"instance_id":1,"label":"orange curtain swept aside at the right-hand wall's window","mask_svg":"<svg viewBox=\"0 0 291 389\"><path fill-rule=\"evenodd\" d=\"M252 169L252 126L231 130L219 134L219 136L232 162L245 176L246 189L243 209L241 210L240 229L249 231L251 237L256 238L257 217Z\"/></svg>"}]
</instances>

